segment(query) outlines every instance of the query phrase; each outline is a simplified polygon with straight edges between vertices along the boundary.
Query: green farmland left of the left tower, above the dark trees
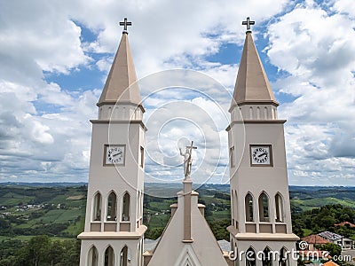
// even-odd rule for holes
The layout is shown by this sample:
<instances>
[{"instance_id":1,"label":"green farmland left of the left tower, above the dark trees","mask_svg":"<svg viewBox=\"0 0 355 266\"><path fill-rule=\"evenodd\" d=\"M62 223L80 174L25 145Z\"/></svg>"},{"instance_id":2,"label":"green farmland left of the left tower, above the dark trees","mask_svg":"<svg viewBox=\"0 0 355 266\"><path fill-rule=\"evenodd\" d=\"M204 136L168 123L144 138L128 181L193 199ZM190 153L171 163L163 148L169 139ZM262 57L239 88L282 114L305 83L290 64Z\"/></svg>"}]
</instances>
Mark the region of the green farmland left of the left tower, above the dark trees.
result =
<instances>
[{"instance_id":1,"label":"green farmland left of the left tower, above the dark trees","mask_svg":"<svg viewBox=\"0 0 355 266\"><path fill-rule=\"evenodd\" d=\"M0 185L0 236L75 238L83 231L85 204L85 186Z\"/></svg>"}]
</instances>

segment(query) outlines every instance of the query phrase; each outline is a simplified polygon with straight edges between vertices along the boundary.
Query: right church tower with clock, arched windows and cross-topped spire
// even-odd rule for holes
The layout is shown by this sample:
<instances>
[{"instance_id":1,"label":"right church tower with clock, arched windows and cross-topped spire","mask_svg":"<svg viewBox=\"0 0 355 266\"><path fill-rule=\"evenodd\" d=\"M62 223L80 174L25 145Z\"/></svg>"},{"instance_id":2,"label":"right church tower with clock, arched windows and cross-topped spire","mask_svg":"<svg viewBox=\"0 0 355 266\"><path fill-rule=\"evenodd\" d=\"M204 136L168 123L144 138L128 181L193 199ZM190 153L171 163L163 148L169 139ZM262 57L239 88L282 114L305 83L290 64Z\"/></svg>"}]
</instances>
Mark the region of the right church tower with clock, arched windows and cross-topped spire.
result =
<instances>
[{"instance_id":1,"label":"right church tower with clock, arched windows and cross-topped spire","mask_svg":"<svg viewBox=\"0 0 355 266\"><path fill-rule=\"evenodd\" d=\"M228 227L235 265L296 265L288 172L279 106L247 25L234 87L231 124L227 128L230 156L232 225ZM268 254L275 253L273 259ZM264 254L264 259L261 259ZM284 260L282 258L285 258Z\"/></svg>"}]
</instances>

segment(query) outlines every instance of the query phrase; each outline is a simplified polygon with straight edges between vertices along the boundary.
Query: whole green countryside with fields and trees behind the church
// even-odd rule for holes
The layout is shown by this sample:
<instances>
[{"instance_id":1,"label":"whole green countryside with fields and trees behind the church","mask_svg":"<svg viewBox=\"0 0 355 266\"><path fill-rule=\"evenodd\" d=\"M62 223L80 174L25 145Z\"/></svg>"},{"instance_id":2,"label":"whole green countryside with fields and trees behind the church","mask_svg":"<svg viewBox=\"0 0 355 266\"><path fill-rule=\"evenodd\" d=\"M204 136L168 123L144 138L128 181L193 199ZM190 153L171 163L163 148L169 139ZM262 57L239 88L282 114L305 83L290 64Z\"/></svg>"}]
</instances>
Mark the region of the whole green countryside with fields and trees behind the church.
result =
<instances>
[{"instance_id":1,"label":"whole green countryside with fields and trees behind the church","mask_svg":"<svg viewBox=\"0 0 355 266\"><path fill-rule=\"evenodd\" d=\"M170 219L180 184L146 184L146 239L157 239ZM354 187L290 186L293 230L299 237L334 231L355 240L355 229L335 226L355 220ZM77 265L87 184L1 184L0 265ZM200 203L216 239L229 240L229 185L203 184ZM154 197L152 195L160 195Z\"/></svg>"}]
</instances>

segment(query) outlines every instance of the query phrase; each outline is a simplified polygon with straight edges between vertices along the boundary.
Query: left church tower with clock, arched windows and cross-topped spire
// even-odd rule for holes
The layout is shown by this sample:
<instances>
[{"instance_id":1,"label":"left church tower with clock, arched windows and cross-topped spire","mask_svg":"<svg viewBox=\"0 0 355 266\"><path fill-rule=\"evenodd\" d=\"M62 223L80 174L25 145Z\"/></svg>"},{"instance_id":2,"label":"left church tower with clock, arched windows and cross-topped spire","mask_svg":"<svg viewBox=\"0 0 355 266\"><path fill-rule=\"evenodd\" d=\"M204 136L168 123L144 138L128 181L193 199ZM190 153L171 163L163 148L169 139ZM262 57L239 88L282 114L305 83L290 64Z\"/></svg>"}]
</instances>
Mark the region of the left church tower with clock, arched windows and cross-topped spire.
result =
<instances>
[{"instance_id":1,"label":"left church tower with clock, arched windows and cross-topped spire","mask_svg":"<svg viewBox=\"0 0 355 266\"><path fill-rule=\"evenodd\" d=\"M81 266L143 265L145 109L124 19L121 43L91 120L91 160Z\"/></svg>"}]
</instances>

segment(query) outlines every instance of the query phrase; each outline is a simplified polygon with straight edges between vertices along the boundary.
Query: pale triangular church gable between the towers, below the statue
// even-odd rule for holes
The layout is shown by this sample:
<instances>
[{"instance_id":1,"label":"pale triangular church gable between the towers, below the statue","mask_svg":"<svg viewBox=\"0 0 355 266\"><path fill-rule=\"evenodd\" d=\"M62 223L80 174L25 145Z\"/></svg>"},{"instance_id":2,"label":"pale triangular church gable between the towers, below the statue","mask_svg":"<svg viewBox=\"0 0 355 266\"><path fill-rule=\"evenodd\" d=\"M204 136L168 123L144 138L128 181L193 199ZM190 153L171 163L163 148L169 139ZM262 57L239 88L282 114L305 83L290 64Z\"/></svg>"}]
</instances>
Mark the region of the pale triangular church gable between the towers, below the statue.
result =
<instances>
[{"instance_id":1,"label":"pale triangular church gable between the towers, below the statue","mask_svg":"<svg viewBox=\"0 0 355 266\"><path fill-rule=\"evenodd\" d=\"M171 217L148 266L170 265L199 266L227 265L209 224L198 207L198 193L191 194L191 241L184 240L186 193L177 193L177 211ZM187 197L188 199L188 197Z\"/></svg>"}]
</instances>

